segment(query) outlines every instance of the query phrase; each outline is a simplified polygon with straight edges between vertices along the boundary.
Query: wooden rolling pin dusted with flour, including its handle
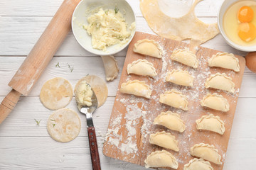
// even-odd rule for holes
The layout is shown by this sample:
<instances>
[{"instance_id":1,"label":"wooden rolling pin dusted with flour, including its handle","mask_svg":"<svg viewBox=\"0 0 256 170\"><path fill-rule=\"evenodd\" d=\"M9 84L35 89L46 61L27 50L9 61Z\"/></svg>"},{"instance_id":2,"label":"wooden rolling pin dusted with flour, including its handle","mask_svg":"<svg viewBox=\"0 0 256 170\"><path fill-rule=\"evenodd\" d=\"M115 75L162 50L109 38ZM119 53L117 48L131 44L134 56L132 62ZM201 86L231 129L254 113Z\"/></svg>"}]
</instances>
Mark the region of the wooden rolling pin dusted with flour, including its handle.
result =
<instances>
[{"instance_id":1,"label":"wooden rolling pin dusted with flour, including its handle","mask_svg":"<svg viewBox=\"0 0 256 170\"><path fill-rule=\"evenodd\" d=\"M46 69L71 28L71 19L80 0L65 0L53 16L36 45L8 84L11 92L0 105L0 124L11 113L21 94L27 96Z\"/></svg>"}]
</instances>

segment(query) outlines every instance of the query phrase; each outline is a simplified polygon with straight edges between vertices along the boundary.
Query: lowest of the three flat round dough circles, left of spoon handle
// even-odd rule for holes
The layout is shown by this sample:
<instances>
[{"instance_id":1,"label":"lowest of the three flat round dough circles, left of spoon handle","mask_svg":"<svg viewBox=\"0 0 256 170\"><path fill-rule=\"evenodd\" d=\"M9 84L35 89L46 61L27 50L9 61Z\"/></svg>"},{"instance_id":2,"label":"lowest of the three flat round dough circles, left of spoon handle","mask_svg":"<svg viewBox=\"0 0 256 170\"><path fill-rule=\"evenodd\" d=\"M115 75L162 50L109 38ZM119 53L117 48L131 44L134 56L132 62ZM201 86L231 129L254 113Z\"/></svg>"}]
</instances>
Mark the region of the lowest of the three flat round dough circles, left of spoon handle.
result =
<instances>
[{"instance_id":1,"label":"lowest of the three flat round dough circles, left of spoon handle","mask_svg":"<svg viewBox=\"0 0 256 170\"><path fill-rule=\"evenodd\" d=\"M79 135L81 121L78 113L68 108L61 108L50 115L47 130L50 137L58 142L70 142Z\"/></svg>"}]
</instances>

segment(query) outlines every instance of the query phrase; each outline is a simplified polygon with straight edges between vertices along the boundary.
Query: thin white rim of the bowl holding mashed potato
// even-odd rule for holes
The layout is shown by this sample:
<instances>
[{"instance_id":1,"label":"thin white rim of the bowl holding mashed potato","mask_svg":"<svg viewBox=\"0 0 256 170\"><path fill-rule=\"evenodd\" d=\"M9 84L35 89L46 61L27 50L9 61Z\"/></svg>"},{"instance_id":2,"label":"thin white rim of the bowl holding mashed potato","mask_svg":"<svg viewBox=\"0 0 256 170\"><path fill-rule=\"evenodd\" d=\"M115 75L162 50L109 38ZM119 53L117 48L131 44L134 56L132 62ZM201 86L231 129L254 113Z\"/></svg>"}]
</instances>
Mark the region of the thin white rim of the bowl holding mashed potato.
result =
<instances>
[{"instance_id":1,"label":"thin white rim of the bowl holding mashed potato","mask_svg":"<svg viewBox=\"0 0 256 170\"><path fill-rule=\"evenodd\" d=\"M134 10L133 10L132 6L131 6L127 1L124 0L124 1L129 5L129 7L132 9L132 13L133 13L133 15L134 15L134 23L135 23L135 28L134 28L134 31L132 31L132 35L131 35L131 38L129 38L129 41L128 41L127 43L125 43L124 45L122 45L122 47L118 48L117 50L114 50L113 52L105 52L105 51L102 51L102 50L98 50L99 52L92 52L91 50L88 50L86 47L84 47L84 46L78 41L77 35L75 34L75 31L73 30L73 27L74 27L74 26L73 26L73 17L74 17L74 13L75 13L75 11L77 10L77 8L79 7L79 5L82 4L83 1L86 1L86 0L81 0L81 1L78 3L78 5L75 7L75 10L74 10L74 12L73 12L73 14L72 14L72 20L71 20L71 29L72 29L73 35L74 35L74 37L75 37L75 40L78 42L78 44L79 44L83 49L87 50L87 52L90 52L90 53L92 53L92 54L94 54L94 55L102 55L102 56L104 56L104 55L114 55L114 54L117 54L117 52L120 52L120 51L124 50L124 48L126 48L126 47L129 45L129 43L132 41L132 39L134 38L134 35L135 35L135 33L136 33L136 28L137 28L137 18L136 18L136 16L135 16L135 13L134 13ZM104 1L104 0L103 0L103 1Z\"/></svg>"}]
</instances>

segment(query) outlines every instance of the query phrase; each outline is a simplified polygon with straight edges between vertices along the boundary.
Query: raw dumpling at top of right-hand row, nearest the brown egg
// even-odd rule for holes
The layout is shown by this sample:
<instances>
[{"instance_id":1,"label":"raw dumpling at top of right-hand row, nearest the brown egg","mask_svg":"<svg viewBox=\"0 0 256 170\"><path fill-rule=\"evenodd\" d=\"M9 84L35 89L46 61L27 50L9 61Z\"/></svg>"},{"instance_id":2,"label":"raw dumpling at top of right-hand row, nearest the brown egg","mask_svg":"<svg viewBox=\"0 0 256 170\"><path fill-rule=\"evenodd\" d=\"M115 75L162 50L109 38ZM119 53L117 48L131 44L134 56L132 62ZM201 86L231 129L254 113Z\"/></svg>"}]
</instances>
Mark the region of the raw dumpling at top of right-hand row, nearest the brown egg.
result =
<instances>
[{"instance_id":1,"label":"raw dumpling at top of right-hand row, nearest the brown egg","mask_svg":"<svg viewBox=\"0 0 256 170\"><path fill-rule=\"evenodd\" d=\"M240 71L239 60L235 55L228 52L218 52L208 60L209 67L221 67L224 69L233 69L235 72Z\"/></svg>"}]
</instances>

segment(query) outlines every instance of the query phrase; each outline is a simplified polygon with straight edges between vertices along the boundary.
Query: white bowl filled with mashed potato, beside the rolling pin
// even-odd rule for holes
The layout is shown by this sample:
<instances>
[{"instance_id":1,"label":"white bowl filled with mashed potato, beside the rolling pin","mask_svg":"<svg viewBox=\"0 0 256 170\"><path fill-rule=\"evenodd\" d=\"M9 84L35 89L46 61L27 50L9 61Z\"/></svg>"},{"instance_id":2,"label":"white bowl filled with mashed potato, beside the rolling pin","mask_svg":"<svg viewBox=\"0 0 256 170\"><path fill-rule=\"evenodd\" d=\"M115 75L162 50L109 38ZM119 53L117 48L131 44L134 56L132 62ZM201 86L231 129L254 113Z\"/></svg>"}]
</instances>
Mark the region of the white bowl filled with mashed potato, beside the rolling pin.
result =
<instances>
[{"instance_id":1,"label":"white bowl filled with mashed potato, beside the rolling pin","mask_svg":"<svg viewBox=\"0 0 256 170\"><path fill-rule=\"evenodd\" d=\"M72 18L75 39L95 55L113 55L134 37L134 11L125 0L82 0Z\"/></svg>"}]
</instances>

